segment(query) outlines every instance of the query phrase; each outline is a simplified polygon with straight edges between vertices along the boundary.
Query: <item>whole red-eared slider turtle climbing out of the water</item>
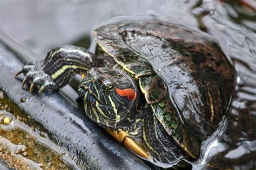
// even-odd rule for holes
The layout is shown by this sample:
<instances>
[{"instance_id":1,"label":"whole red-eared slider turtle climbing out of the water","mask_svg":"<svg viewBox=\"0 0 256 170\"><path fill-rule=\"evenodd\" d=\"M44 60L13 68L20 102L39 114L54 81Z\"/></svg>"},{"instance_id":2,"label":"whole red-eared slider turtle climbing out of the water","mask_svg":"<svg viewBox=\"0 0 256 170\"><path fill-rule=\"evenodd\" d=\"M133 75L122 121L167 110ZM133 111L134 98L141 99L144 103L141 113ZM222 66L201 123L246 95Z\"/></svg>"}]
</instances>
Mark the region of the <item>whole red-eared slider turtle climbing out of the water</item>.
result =
<instances>
[{"instance_id":1,"label":"whole red-eared slider turtle climbing out of the water","mask_svg":"<svg viewBox=\"0 0 256 170\"><path fill-rule=\"evenodd\" d=\"M116 22L93 35L100 55L56 47L17 73L25 75L22 86L28 82L30 92L53 91L86 71L78 93L92 121L158 166L198 159L234 85L232 66L218 45L162 21Z\"/></svg>"}]
</instances>

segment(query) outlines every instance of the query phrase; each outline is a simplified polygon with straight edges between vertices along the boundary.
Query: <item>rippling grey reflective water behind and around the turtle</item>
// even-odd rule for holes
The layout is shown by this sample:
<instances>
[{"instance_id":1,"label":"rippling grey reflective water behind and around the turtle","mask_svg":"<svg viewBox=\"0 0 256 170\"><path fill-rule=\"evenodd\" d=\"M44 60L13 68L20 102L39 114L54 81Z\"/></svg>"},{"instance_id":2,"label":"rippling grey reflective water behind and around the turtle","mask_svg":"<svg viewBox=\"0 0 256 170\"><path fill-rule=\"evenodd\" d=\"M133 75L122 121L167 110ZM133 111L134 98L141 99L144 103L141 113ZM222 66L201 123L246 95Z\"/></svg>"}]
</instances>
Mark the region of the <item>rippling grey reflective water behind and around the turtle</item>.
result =
<instances>
[{"instance_id":1,"label":"rippling grey reflective water behind and around the turtle","mask_svg":"<svg viewBox=\"0 0 256 170\"><path fill-rule=\"evenodd\" d=\"M1 1L0 5L0 38L6 33L15 39L28 60L41 60L62 44L88 47L89 39L93 51L91 31L117 16L163 18L213 36L235 68L236 84L230 108L192 165L256 167L255 1Z\"/></svg>"}]
</instances>

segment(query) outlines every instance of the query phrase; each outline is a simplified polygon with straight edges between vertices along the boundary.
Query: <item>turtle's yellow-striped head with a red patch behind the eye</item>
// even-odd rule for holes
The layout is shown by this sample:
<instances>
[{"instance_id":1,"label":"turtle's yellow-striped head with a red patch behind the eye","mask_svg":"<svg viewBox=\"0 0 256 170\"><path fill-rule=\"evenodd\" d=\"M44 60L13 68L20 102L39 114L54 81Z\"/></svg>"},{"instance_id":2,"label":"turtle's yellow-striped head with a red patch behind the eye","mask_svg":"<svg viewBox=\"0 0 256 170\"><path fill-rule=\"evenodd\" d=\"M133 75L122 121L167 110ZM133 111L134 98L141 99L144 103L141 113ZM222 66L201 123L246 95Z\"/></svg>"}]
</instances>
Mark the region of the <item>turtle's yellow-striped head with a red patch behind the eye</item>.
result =
<instances>
[{"instance_id":1,"label":"turtle's yellow-striped head with a red patch behind the eye","mask_svg":"<svg viewBox=\"0 0 256 170\"><path fill-rule=\"evenodd\" d=\"M87 116L98 125L117 130L138 102L136 81L118 69L90 69L80 80L80 98Z\"/></svg>"}]
</instances>

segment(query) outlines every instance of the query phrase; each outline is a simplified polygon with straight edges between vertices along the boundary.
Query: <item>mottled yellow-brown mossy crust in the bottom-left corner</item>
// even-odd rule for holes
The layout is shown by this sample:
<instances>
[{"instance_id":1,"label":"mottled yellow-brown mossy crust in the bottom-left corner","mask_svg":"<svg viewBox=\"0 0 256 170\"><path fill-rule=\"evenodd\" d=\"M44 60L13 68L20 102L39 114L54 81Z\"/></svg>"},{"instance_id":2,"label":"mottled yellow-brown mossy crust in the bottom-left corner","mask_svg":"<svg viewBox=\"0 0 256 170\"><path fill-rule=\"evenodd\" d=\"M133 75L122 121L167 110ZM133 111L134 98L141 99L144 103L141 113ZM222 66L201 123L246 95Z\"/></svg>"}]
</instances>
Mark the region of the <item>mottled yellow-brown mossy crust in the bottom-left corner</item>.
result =
<instances>
[{"instance_id":1,"label":"mottled yellow-brown mossy crust in the bottom-left corner","mask_svg":"<svg viewBox=\"0 0 256 170\"><path fill-rule=\"evenodd\" d=\"M40 164L40 167L43 169L71 169L69 165L62 161L62 153L57 153L48 146L52 145L52 142L47 138L48 135L44 133L44 127L31 119L28 114L23 112L21 108L12 103L6 96L6 93L4 93L4 97L0 99L0 111L3 110L1 111L3 112L3 118L5 113L8 113L8 115L11 113L15 126L12 128L4 128L11 125L2 124L0 126L0 148L4 148L4 151L0 149L0 159L3 159L10 168L17 169L31 168L31 162L34 162L33 164ZM28 127L21 128L27 125ZM44 138L45 143L41 143L38 138ZM45 145L46 143L48 145ZM11 149L13 148L11 146L15 145L24 145L25 149L12 153ZM24 161L17 157L16 154L31 160L31 162Z\"/></svg>"}]
</instances>

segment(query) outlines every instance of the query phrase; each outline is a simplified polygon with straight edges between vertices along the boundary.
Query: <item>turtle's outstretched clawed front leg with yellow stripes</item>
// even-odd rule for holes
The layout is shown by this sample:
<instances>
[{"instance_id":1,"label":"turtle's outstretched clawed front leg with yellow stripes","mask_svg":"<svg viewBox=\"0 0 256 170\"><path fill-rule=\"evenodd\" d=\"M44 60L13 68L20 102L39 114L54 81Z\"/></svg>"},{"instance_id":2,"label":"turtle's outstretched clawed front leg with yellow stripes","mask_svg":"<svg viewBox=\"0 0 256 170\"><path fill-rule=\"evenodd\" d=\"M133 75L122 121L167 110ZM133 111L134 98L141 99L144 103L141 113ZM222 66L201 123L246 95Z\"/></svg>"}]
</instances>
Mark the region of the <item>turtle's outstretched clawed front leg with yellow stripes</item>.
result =
<instances>
[{"instance_id":1,"label":"turtle's outstretched clawed front leg with yellow stripes","mask_svg":"<svg viewBox=\"0 0 256 170\"><path fill-rule=\"evenodd\" d=\"M42 93L58 90L75 74L97 66L97 57L93 53L83 47L64 45L50 50L44 60L25 65L15 77L23 73L22 87L29 83L31 93L35 87Z\"/></svg>"}]
</instances>

